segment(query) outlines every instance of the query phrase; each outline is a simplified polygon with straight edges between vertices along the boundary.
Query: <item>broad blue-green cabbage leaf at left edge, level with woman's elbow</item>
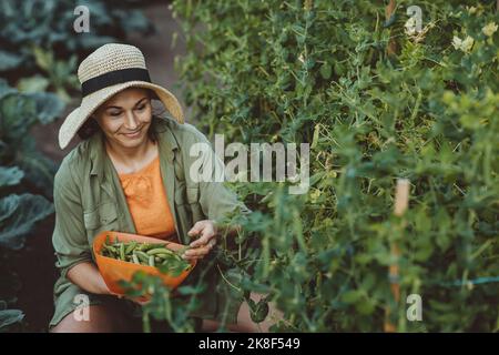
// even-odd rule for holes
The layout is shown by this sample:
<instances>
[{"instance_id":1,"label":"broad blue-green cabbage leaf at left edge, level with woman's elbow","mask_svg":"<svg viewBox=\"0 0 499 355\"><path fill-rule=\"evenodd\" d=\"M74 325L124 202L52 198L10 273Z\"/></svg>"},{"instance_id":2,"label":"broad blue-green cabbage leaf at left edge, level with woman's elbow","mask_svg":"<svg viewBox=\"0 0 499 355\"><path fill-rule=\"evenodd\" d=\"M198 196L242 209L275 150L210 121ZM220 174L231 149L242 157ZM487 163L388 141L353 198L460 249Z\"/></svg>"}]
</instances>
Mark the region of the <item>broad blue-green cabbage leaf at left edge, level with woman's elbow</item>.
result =
<instances>
[{"instance_id":1,"label":"broad blue-green cabbage leaf at left edge, level with woman's elbow","mask_svg":"<svg viewBox=\"0 0 499 355\"><path fill-rule=\"evenodd\" d=\"M53 213L52 204L40 195L11 194L0 200L0 246L19 250L34 223Z\"/></svg>"}]
</instances>

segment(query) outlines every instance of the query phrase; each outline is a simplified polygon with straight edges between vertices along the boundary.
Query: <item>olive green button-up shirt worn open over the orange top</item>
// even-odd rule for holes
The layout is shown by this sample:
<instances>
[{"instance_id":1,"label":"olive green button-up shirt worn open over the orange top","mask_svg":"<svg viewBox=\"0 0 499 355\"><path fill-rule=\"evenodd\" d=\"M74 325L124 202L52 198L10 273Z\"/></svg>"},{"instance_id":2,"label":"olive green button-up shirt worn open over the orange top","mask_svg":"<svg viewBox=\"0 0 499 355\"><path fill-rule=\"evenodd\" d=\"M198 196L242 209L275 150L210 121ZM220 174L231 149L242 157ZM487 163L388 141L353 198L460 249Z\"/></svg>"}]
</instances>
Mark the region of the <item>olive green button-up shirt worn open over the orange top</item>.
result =
<instances>
[{"instance_id":1,"label":"olive green button-up shirt worn open over the orange top","mask_svg":"<svg viewBox=\"0 0 499 355\"><path fill-rule=\"evenodd\" d=\"M161 121L157 130L161 175L181 243L190 243L187 232L197 221L220 221L237 210L248 212L223 183L191 179L190 170L198 163L198 156L190 156L191 146L195 143L210 144L200 131L169 119ZM61 277L54 286L55 314L51 325L74 310L72 298L75 294L85 293L65 275L79 263L94 262L94 236L102 231L136 233L118 173L106 154L102 132L81 142L62 161L54 179L54 207L52 242ZM221 268L216 267L216 260L213 263L210 258L213 256L198 263L194 270L197 273L193 272L187 280L197 280L203 274L208 287L201 297L201 314L220 320L222 310L237 312L241 295L222 285L224 277L220 275ZM210 268L210 272L203 268ZM224 316L227 317L226 314ZM234 323L234 316L231 314L226 320Z\"/></svg>"}]
</instances>

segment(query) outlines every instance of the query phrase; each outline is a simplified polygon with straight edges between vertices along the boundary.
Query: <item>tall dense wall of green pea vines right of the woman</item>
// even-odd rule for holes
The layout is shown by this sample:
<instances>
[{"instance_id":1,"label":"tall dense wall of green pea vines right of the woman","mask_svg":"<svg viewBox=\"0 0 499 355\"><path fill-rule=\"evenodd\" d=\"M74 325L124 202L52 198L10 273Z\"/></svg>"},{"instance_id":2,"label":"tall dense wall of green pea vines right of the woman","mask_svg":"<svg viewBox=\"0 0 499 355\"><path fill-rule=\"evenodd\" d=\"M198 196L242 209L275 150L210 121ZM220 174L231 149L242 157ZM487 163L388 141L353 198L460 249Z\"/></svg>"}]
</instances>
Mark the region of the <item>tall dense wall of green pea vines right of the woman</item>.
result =
<instances>
[{"instance_id":1,"label":"tall dense wall of green pea vines right of the woman","mask_svg":"<svg viewBox=\"0 0 499 355\"><path fill-rule=\"evenodd\" d=\"M232 262L284 311L275 329L380 332L390 308L399 331L499 331L499 32L482 32L496 1L418 1L419 39L404 29L414 3L397 2L385 21L383 1L174 1L191 120L226 142L312 144L307 194L234 186L262 252ZM422 322L406 318L411 293Z\"/></svg>"}]
</instances>

